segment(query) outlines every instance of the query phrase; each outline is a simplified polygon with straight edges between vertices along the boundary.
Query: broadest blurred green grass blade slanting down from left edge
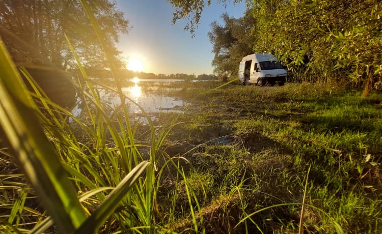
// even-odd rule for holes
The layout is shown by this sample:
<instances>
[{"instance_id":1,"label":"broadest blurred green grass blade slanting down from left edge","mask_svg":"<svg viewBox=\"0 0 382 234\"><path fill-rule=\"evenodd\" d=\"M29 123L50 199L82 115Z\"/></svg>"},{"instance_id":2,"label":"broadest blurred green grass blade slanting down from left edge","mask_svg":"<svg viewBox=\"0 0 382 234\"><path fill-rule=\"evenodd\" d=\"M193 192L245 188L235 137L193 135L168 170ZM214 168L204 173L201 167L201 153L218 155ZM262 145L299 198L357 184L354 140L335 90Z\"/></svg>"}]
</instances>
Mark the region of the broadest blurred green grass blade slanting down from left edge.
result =
<instances>
[{"instance_id":1,"label":"broadest blurred green grass blade slanting down from left edge","mask_svg":"<svg viewBox=\"0 0 382 234\"><path fill-rule=\"evenodd\" d=\"M36 105L0 41L0 123L58 229L71 233L86 219L57 152L38 124Z\"/></svg>"}]
</instances>

